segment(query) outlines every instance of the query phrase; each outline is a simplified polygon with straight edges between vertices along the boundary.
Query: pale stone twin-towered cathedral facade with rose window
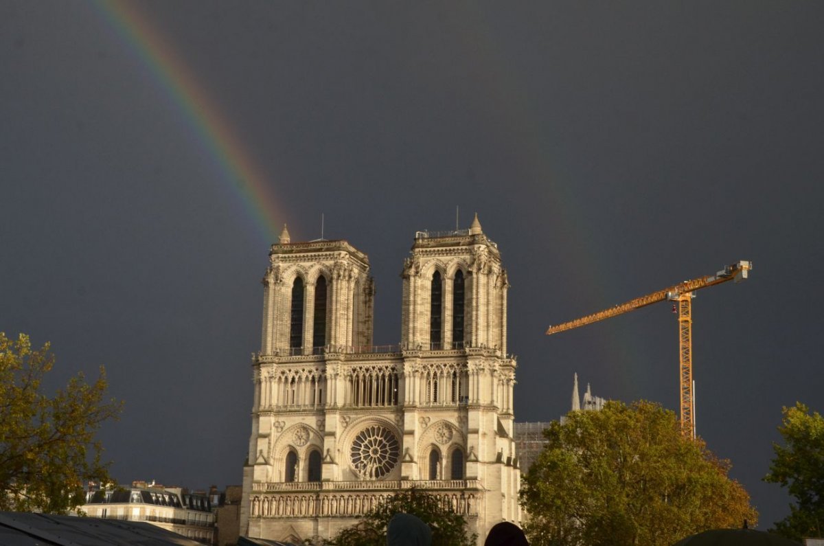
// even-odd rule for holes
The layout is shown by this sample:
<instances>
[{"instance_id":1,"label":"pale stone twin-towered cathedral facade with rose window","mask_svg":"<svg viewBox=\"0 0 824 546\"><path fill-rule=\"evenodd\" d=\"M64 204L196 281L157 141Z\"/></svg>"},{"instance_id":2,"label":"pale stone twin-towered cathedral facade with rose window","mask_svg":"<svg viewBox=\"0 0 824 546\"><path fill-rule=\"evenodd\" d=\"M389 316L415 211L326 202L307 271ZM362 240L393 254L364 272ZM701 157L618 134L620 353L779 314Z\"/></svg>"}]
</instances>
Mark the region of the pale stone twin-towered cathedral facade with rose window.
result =
<instances>
[{"instance_id":1,"label":"pale stone twin-towered cathedral facade with rose window","mask_svg":"<svg viewBox=\"0 0 824 546\"><path fill-rule=\"evenodd\" d=\"M519 520L508 281L477 218L415 235L399 346L372 346L369 261L348 242L284 228L269 258L241 534L330 537L409 487L466 515L479 544Z\"/></svg>"}]
</instances>

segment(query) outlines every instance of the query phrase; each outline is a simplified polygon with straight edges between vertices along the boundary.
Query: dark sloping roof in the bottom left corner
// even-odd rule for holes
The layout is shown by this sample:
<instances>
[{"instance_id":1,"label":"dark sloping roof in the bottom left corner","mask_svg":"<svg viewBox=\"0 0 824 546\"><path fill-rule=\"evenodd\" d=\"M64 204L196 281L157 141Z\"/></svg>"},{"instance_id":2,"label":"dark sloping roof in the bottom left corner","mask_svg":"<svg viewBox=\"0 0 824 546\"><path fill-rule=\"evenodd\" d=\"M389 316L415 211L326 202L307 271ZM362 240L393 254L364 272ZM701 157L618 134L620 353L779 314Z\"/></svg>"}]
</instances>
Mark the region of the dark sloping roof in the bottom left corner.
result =
<instances>
[{"instance_id":1,"label":"dark sloping roof in the bottom left corner","mask_svg":"<svg viewBox=\"0 0 824 546\"><path fill-rule=\"evenodd\" d=\"M0 512L0 544L7 546L201 546L195 540L139 521L74 515Z\"/></svg>"}]
</instances>

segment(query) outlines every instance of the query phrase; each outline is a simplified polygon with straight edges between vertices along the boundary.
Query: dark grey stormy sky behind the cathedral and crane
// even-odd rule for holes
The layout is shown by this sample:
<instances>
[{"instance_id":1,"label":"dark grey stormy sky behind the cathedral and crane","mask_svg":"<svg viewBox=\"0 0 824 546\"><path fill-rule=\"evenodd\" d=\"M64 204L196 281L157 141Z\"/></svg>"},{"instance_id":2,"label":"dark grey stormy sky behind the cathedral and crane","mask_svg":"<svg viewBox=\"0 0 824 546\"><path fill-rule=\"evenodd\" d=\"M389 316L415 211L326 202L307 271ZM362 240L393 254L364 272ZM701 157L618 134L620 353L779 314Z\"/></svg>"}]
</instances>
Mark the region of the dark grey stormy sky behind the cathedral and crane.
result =
<instances>
[{"instance_id":1,"label":"dark grey stormy sky behind the cathedral and crane","mask_svg":"<svg viewBox=\"0 0 824 546\"><path fill-rule=\"evenodd\" d=\"M513 5L514 3L514 5ZM821 2L138 2L275 196L346 238L400 338L420 229L503 254L518 421L582 388L677 409L668 304L563 322L751 260L694 301L698 431L761 510L782 405L822 411ZM274 233L94 2L0 2L0 331L54 384L105 365L121 482L241 482Z\"/></svg>"}]
</instances>

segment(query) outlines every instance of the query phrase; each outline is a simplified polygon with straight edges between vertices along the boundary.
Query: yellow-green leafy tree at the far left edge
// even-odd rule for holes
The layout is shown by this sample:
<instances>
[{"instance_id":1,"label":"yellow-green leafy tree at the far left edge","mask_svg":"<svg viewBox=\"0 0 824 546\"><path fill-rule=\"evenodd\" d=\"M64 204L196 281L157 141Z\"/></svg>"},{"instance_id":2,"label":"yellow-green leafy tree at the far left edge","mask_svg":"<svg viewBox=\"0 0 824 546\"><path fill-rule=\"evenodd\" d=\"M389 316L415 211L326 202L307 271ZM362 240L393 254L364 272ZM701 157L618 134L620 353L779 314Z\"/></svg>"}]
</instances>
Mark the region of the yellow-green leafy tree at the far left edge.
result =
<instances>
[{"instance_id":1,"label":"yellow-green leafy tree at the far left edge","mask_svg":"<svg viewBox=\"0 0 824 546\"><path fill-rule=\"evenodd\" d=\"M26 334L0 332L0 510L66 513L85 501L83 482L108 481L95 435L121 404L106 398L105 370L93 384L77 374L49 397L53 366L49 343L33 350Z\"/></svg>"}]
</instances>

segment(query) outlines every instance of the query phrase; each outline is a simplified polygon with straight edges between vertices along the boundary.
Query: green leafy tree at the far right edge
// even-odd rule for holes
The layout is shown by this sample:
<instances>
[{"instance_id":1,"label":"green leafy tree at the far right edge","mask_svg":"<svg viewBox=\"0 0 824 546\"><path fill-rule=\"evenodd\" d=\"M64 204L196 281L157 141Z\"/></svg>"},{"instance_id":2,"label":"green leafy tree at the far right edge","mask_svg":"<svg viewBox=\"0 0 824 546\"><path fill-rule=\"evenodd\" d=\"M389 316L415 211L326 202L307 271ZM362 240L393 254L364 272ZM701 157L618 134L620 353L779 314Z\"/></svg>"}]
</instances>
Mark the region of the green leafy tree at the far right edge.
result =
<instances>
[{"instance_id":1,"label":"green leafy tree at the far right edge","mask_svg":"<svg viewBox=\"0 0 824 546\"><path fill-rule=\"evenodd\" d=\"M788 539L824 536L824 417L801 402L782 408L778 431L784 444L773 444L775 459L765 482L787 487L795 504L771 529Z\"/></svg>"}]
</instances>

